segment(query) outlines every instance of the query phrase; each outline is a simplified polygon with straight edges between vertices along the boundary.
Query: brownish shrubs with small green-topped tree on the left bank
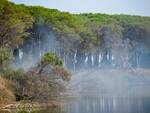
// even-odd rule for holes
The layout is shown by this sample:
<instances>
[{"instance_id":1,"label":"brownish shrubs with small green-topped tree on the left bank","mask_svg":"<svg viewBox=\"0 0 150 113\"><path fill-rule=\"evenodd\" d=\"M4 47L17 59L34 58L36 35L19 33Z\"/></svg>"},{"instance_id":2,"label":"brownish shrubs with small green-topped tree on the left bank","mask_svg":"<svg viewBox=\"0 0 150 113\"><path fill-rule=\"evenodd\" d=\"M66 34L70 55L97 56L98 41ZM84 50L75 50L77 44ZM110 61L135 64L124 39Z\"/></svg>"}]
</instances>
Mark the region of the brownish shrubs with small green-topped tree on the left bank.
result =
<instances>
[{"instance_id":1,"label":"brownish shrubs with small green-topped tree on the left bank","mask_svg":"<svg viewBox=\"0 0 150 113\"><path fill-rule=\"evenodd\" d=\"M3 79L0 78L0 102L47 102L60 98L60 94L65 91L65 82L70 80L71 75L62 65L63 62L55 54L46 53L41 62L27 72L23 69L3 69Z\"/></svg>"}]
</instances>

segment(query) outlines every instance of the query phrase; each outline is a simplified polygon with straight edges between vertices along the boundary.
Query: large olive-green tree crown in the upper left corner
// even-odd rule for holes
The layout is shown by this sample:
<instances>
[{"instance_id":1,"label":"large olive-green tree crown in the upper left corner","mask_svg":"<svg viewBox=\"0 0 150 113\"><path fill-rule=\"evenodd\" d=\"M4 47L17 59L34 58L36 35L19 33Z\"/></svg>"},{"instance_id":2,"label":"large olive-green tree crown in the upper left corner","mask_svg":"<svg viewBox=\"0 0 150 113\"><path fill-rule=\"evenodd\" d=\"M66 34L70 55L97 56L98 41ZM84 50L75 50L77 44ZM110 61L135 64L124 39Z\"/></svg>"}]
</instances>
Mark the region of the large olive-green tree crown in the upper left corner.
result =
<instances>
[{"instance_id":1,"label":"large olive-green tree crown in the upper left corner","mask_svg":"<svg viewBox=\"0 0 150 113\"><path fill-rule=\"evenodd\" d=\"M15 47L23 43L33 25L33 17L24 6L14 5L6 0L0 6L0 47Z\"/></svg>"}]
</instances>

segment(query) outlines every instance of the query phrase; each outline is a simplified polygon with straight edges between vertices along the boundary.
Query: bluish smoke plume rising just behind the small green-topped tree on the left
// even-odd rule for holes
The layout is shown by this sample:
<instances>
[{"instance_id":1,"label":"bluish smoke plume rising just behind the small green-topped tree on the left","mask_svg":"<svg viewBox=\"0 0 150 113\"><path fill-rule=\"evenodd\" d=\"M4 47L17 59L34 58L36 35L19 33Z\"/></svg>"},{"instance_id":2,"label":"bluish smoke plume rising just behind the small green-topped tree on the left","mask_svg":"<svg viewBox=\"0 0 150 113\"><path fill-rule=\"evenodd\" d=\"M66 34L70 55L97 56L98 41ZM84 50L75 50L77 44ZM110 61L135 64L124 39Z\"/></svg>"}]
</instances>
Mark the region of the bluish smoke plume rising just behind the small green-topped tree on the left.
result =
<instances>
[{"instance_id":1,"label":"bluish smoke plume rising just behind the small green-topped tree on the left","mask_svg":"<svg viewBox=\"0 0 150 113\"><path fill-rule=\"evenodd\" d=\"M61 56L62 45L50 28L36 27L35 34L14 50L14 68L28 70L37 65L45 53Z\"/></svg>"}]
</instances>

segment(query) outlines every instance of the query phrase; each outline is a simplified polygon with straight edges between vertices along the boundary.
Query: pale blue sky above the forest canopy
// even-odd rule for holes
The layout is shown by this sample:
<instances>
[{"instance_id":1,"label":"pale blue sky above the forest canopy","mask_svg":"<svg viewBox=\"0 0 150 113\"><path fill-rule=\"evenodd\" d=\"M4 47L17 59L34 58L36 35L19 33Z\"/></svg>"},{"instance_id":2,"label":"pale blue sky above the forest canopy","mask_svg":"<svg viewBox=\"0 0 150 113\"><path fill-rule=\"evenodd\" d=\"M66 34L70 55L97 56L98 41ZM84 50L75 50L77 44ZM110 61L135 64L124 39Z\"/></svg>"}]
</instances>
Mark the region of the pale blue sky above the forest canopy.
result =
<instances>
[{"instance_id":1,"label":"pale blue sky above the forest canopy","mask_svg":"<svg viewBox=\"0 0 150 113\"><path fill-rule=\"evenodd\" d=\"M11 0L70 13L106 13L150 16L150 0Z\"/></svg>"}]
</instances>

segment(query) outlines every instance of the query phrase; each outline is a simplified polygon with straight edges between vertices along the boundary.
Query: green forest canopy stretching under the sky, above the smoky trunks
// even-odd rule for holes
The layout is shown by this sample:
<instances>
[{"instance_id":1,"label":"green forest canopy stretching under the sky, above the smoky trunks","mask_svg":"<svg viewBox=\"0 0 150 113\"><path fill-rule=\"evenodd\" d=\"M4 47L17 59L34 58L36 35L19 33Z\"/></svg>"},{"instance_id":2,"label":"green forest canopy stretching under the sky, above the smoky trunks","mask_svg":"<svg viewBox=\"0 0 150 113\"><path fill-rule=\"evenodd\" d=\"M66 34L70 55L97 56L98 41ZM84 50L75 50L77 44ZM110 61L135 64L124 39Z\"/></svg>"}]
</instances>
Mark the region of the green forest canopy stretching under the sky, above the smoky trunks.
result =
<instances>
[{"instance_id":1,"label":"green forest canopy stretching under the sky, above the smoky trunks","mask_svg":"<svg viewBox=\"0 0 150 113\"><path fill-rule=\"evenodd\" d=\"M78 41L78 43L87 42L85 46L89 46L90 43L98 44L103 34L102 30L106 27L118 35L123 35L127 32L126 30L135 30L136 36L132 36L135 40L142 38L142 34L138 35L139 32L144 32L145 35L149 35L150 32L149 17L106 14L73 15L39 6L15 5L6 0L0 2L1 46L17 46L25 38L30 37L35 26L51 27L59 38L68 37L68 40Z\"/></svg>"}]
</instances>

